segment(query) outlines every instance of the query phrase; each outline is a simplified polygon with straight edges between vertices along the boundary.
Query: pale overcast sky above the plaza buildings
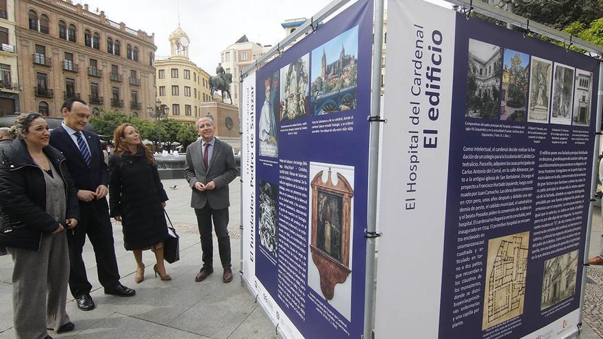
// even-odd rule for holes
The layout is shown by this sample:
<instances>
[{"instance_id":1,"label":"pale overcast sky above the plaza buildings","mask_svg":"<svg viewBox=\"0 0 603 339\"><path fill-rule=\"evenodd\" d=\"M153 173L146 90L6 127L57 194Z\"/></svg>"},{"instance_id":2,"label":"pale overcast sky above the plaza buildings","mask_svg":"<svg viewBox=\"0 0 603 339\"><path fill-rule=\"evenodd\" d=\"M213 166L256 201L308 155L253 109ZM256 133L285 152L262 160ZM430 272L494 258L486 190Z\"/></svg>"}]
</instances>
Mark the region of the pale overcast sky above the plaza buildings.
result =
<instances>
[{"instance_id":1,"label":"pale overcast sky above the plaza buildings","mask_svg":"<svg viewBox=\"0 0 603 339\"><path fill-rule=\"evenodd\" d=\"M73 0L89 10L105 11L112 21L155 33L156 58L170 53L169 34L180 27L190 38L190 60L213 75L220 52L244 34L250 41L275 45L282 40L281 23L316 14L329 0ZM222 22L222 23L221 23Z\"/></svg>"}]
</instances>

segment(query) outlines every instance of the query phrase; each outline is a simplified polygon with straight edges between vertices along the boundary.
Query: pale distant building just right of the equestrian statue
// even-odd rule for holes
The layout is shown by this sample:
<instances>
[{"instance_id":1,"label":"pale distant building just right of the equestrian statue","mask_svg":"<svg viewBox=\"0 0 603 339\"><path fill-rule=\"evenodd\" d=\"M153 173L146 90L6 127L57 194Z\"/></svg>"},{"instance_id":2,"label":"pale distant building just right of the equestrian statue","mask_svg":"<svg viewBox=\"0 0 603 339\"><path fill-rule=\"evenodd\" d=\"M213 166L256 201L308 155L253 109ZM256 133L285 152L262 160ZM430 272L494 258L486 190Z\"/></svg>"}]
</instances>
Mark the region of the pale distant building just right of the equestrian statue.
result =
<instances>
[{"instance_id":1,"label":"pale distant building just right of the equestrian statue","mask_svg":"<svg viewBox=\"0 0 603 339\"><path fill-rule=\"evenodd\" d=\"M234 42L234 44L221 51L220 60L222 67L226 73L232 74L230 94L232 95L233 105L238 107L238 101L240 99L238 84L241 71L264 55L268 48L269 46L263 47L256 42L250 42L249 39L247 39L247 36L242 36Z\"/></svg>"}]
</instances>

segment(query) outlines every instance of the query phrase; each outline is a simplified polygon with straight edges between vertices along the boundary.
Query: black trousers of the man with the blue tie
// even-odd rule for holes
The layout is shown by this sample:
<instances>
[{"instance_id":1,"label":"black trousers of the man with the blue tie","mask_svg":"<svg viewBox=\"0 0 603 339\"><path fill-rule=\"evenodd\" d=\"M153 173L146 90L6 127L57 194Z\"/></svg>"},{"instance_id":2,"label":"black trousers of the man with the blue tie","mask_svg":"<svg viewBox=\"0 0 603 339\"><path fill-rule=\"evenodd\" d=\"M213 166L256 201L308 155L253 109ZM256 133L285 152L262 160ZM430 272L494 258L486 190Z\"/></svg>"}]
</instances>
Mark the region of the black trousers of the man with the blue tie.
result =
<instances>
[{"instance_id":1,"label":"black trousers of the man with the blue tie","mask_svg":"<svg viewBox=\"0 0 603 339\"><path fill-rule=\"evenodd\" d=\"M80 221L73 229L67 230L69 243L69 288L74 298L90 293L92 285L86 276L86 266L82 259L82 249L86 234L90 239L97 261L99 282L105 288L114 288L119 283L119 271L113 246L113 227L103 202L79 202Z\"/></svg>"}]
</instances>

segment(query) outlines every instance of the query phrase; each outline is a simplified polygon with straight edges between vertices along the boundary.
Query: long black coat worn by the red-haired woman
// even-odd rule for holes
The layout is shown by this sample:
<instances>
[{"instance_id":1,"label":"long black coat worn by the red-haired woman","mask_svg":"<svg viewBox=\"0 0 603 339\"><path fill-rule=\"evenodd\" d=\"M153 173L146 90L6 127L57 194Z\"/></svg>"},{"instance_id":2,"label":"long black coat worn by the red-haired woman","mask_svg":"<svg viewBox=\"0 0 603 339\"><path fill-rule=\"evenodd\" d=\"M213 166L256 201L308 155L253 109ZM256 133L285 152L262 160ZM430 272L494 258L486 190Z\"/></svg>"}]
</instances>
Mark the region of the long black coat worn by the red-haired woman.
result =
<instances>
[{"instance_id":1,"label":"long black coat worn by the red-haired woman","mask_svg":"<svg viewBox=\"0 0 603 339\"><path fill-rule=\"evenodd\" d=\"M138 153L114 153L109 158L111 216L121 216L127 250L145 249L167 238L162 201L168 197L157 166L149 163L142 147Z\"/></svg>"}]
</instances>

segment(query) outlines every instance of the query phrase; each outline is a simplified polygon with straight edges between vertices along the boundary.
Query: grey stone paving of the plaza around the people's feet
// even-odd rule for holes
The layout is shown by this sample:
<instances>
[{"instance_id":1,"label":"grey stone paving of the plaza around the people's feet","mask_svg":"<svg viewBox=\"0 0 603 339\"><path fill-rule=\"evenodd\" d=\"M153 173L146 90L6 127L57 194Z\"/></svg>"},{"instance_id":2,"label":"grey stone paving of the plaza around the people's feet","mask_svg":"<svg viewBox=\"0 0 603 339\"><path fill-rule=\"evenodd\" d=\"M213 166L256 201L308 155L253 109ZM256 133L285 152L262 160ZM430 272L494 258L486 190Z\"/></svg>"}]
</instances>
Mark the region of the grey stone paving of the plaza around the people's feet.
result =
<instances>
[{"instance_id":1,"label":"grey stone paving of the plaza around the people's feet","mask_svg":"<svg viewBox=\"0 0 603 339\"><path fill-rule=\"evenodd\" d=\"M121 226L114 224L115 250L121 273L121 282L136 289L131 298L112 297L103 294L98 279L93 249L86 243L84 260L88 277L93 284L91 293L97 307L82 312L70 299L67 311L75 330L66 334L55 334L53 338L280 338L275 326L264 314L262 307L255 303L247 286L236 277L230 284L221 280L221 270L216 269L206 281L194 281L201 265L201 245L197 233L197 222L189 207L190 189L184 179L163 180L170 198L167 212L180 234L180 261L167 264L167 272L172 281L161 281L153 275L154 255L145 251L143 257L147 270L145 281L134 283L136 264L132 253L123 248ZM241 255L240 225L241 206L240 182L235 179L230 184L230 225L232 243L232 269L239 271ZM598 253L600 236L603 234L600 210L593 216L591 233L591 255ZM214 237L214 263L219 263L217 242ZM603 268L593 268L603 269ZM12 327L12 261L9 255L0 257L0 339L14 338ZM68 296L71 298L71 294ZM603 307L601 307L603 309ZM603 314L603 312L602 312ZM600 339L601 337L584 324L580 339Z\"/></svg>"}]
</instances>

